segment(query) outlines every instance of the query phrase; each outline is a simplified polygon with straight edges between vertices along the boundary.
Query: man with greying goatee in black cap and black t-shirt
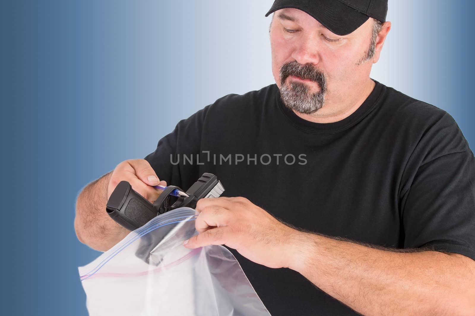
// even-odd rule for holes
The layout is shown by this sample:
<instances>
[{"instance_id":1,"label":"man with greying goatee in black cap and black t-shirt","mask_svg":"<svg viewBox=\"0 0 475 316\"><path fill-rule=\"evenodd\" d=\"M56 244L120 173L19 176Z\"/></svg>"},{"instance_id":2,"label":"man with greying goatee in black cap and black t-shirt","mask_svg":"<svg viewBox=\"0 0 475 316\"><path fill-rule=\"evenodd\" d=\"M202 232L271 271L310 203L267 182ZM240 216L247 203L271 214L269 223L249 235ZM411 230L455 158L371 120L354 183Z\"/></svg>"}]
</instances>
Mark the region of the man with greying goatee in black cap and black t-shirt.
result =
<instances>
[{"instance_id":1,"label":"man with greying goatee in black cap and black t-shirt","mask_svg":"<svg viewBox=\"0 0 475 316\"><path fill-rule=\"evenodd\" d=\"M276 0L276 84L218 99L89 184L78 238L105 251L128 233L104 211L122 180L152 201L159 177L187 189L212 172L230 198L199 201L184 245L232 249L272 315L474 315L475 158L445 111L371 80L386 11Z\"/></svg>"}]
</instances>

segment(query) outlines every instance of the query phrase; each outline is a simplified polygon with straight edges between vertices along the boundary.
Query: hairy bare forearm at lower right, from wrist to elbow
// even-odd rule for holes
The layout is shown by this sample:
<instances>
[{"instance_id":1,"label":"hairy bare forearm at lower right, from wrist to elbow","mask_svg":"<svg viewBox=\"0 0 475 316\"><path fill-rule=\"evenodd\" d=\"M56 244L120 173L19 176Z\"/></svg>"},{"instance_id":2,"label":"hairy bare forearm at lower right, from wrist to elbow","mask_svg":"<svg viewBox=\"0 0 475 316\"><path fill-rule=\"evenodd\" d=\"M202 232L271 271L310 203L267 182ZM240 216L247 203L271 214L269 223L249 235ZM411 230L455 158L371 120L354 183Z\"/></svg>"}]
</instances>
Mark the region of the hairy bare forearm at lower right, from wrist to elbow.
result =
<instances>
[{"instance_id":1,"label":"hairy bare forearm at lower right, from wrist to elbow","mask_svg":"<svg viewBox=\"0 0 475 316\"><path fill-rule=\"evenodd\" d=\"M391 252L296 234L298 251L289 268L363 315L474 312L473 265L458 260L460 255Z\"/></svg>"}]
</instances>

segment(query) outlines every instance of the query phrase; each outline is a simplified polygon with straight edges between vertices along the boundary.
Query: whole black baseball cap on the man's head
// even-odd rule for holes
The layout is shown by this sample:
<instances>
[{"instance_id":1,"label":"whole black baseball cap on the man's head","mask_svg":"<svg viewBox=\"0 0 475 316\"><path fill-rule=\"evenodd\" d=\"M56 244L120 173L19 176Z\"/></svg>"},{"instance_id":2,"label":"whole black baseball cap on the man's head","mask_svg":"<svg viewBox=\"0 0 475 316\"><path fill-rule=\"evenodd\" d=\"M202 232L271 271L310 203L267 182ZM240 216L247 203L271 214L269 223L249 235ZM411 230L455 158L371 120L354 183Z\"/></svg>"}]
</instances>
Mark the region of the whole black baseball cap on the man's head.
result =
<instances>
[{"instance_id":1,"label":"whole black baseball cap on the man's head","mask_svg":"<svg viewBox=\"0 0 475 316\"><path fill-rule=\"evenodd\" d=\"M368 18L386 22L388 0L275 0L266 17L284 8L302 10L331 32L347 35Z\"/></svg>"}]
</instances>

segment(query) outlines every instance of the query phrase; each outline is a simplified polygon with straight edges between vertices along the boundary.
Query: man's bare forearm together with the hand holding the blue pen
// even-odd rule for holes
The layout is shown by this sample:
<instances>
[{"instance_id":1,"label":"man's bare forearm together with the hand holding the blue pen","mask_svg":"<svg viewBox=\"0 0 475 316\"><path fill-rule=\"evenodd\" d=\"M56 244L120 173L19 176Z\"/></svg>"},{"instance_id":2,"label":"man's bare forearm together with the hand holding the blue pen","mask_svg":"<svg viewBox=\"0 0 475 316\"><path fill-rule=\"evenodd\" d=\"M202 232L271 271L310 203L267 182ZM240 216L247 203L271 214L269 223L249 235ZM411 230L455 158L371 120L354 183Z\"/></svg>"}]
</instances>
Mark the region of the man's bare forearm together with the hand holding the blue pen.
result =
<instances>
[{"instance_id":1,"label":"man's bare forearm together with the hand holding the blue pen","mask_svg":"<svg viewBox=\"0 0 475 316\"><path fill-rule=\"evenodd\" d=\"M150 163L133 159L119 163L113 172L85 186L77 197L74 227L79 241L93 249L106 251L130 233L105 211L107 200L120 181L128 181L133 190L152 203L161 193L153 186L167 185L160 181Z\"/></svg>"}]
</instances>

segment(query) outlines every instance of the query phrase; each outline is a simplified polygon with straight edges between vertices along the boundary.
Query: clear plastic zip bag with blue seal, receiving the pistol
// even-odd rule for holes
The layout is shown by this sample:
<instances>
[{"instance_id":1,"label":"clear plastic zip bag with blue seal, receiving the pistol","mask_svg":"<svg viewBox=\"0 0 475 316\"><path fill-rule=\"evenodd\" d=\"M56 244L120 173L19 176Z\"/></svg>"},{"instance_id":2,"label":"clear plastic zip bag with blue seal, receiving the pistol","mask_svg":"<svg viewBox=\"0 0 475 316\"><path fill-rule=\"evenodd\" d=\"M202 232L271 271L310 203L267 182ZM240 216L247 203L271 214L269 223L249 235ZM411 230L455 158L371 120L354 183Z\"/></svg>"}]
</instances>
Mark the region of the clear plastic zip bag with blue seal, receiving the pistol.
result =
<instances>
[{"instance_id":1,"label":"clear plastic zip bag with blue seal, receiving the pistol","mask_svg":"<svg viewBox=\"0 0 475 316\"><path fill-rule=\"evenodd\" d=\"M191 208L162 214L79 267L89 315L269 316L228 249L183 246L195 218Z\"/></svg>"}]
</instances>

